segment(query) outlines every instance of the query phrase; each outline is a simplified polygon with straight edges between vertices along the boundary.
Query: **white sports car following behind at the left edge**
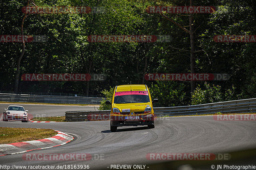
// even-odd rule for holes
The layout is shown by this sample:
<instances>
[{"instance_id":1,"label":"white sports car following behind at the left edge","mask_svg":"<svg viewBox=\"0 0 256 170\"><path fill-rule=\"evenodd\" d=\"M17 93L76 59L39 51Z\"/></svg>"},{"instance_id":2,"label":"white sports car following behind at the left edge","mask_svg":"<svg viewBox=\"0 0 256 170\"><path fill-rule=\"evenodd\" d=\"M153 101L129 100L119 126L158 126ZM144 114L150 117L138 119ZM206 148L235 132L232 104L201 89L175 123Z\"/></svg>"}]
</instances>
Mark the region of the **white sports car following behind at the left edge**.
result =
<instances>
[{"instance_id":1,"label":"white sports car following behind at the left edge","mask_svg":"<svg viewBox=\"0 0 256 170\"><path fill-rule=\"evenodd\" d=\"M3 121L15 120L21 122L28 122L28 110L22 106L11 105L4 109Z\"/></svg>"}]
</instances>

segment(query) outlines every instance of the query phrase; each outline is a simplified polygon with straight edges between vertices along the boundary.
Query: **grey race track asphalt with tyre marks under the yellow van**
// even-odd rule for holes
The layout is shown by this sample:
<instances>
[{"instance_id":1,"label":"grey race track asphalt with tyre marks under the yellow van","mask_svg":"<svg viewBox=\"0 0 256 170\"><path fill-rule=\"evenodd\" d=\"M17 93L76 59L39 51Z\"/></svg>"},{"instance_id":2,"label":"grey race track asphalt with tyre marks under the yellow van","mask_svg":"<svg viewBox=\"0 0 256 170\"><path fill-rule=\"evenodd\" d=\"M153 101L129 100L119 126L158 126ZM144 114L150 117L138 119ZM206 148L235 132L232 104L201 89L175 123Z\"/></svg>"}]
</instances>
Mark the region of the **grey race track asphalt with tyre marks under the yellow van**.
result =
<instances>
[{"instance_id":1,"label":"grey race track asphalt with tyre marks under the yellow van","mask_svg":"<svg viewBox=\"0 0 256 170\"><path fill-rule=\"evenodd\" d=\"M29 107L25 109L30 109L33 114L39 114L49 106L40 106L41 110L38 105ZM51 109L56 110L56 115L63 111L80 109L80 107L71 107L66 109L66 107L51 106ZM110 132L110 121L55 123L0 121L1 127L50 128L75 137L68 144L26 152L26 154L89 153L92 155L92 159L86 161L43 161L23 160L24 153L19 153L1 156L0 165L89 165L90 169L111 169L111 165L125 164L146 165L145 169L151 169L150 164L164 161L148 160L147 153L229 153L254 149L256 148L255 123L255 121L216 121L212 116L170 117L156 118L154 129L143 126L119 127L116 132ZM100 154L101 160L98 158ZM256 162L253 163L256 166Z\"/></svg>"}]
</instances>

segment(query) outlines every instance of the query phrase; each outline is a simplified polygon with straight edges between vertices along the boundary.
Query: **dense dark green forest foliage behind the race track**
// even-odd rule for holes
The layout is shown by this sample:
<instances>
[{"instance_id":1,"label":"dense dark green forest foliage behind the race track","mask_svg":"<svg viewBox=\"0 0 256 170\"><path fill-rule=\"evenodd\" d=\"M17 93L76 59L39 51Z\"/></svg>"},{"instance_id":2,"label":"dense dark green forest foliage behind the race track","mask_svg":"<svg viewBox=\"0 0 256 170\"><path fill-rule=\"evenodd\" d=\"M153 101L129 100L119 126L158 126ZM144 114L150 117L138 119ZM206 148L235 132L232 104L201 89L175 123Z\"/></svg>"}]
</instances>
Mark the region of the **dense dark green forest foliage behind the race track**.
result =
<instances>
[{"instance_id":1,"label":"dense dark green forest foliage behind the race track","mask_svg":"<svg viewBox=\"0 0 256 170\"><path fill-rule=\"evenodd\" d=\"M19 35L21 8L26 0L0 0L1 35ZM30 14L24 21L24 35L47 35L47 42L25 43L20 63L24 73L98 73L105 81L21 81L19 92L58 92L105 97L109 86L146 84L154 106L182 106L245 98L256 95L256 43L216 43L214 35L256 35L255 2L252 0L194 0L194 4L220 6L212 14L194 14L196 28L196 72L228 73L228 81L146 81L146 73L189 73L190 38L160 14L149 14L147 6L181 5L189 1L35 0L37 6L104 7L104 13ZM33 4L29 4L33 6ZM254 7L253 7L254 5ZM229 8L228 8L229 7ZM227 8L225 10L224 8ZM188 14L166 14L188 29ZM88 35L171 35L171 42L90 43ZM172 48L175 47L175 48ZM181 49L181 50L180 50ZM0 91L13 91L14 74L21 44L0 43ZM20 78L21 79L21 78ZM211 85L209 85L211 83ZM212 85L214 84L214 86ZM201 89L201 87L204 87ZM221 88L220 88L221 87ZM102 92L102 93L101 93ZM112 95L112 94L111 94ZM112 97L112 96L111 96ZM109 106L102 105L101 109Z\"/></svg>"}]
</instances>

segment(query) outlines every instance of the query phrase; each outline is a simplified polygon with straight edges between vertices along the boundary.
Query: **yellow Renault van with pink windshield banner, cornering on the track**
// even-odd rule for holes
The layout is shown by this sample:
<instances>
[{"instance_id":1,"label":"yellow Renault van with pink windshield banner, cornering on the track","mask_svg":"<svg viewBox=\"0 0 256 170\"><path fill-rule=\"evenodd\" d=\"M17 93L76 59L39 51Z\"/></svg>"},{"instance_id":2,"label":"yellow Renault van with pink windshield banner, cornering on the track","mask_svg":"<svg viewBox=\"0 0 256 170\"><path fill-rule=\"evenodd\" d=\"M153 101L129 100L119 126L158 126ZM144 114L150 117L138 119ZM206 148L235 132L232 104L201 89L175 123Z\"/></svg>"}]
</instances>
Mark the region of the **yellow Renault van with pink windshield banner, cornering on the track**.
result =
<instances>
[{"instance_id":1,"label":"yellow Renault van with pink windshield banner, cornering on the track","mask_svg":"<svg viewBox=\"0 0 256 170\"><path fill-rule=\"evenodd\" d=\"M106 101L111 105L110 131L115 132L118 126L148 125L155 128L154 110L147 85L117 85L112 101Z\"/></svg>"}]
</instances>

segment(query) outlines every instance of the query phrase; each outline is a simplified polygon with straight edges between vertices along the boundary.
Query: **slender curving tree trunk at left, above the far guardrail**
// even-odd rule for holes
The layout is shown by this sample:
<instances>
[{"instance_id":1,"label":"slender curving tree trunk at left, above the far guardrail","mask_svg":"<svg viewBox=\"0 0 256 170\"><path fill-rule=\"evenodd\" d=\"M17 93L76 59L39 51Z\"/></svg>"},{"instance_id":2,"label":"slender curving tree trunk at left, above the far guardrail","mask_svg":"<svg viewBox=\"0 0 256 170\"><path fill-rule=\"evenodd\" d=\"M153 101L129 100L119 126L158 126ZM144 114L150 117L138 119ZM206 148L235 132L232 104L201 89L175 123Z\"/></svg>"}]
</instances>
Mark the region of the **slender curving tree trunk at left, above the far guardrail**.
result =
<instances>
[{"instance_id":1,"label":"slender curving tree trunk at left, above the far guardrail","mask_svg":"<svg viewBox=\"0 0 256 170\"><path fill-rule=\"evenodd\" d=\"M28 7L28 4L29 4L29 0L27 1L27 7ZM20 29L21 29L21 35L23 36L23 24L24 24L24 20L25 18L27 17L27 11L25 12L25 15L24 17L22 18L22 21L21 21L21 26L20 26ZM16 68L16 73L15 73L15 80L14 80L14 92L18 92L18 87L19 87L19 77L20 77L20 61L23 57L25 53L25 42L23 41L22 42L22 51L21 51L21 54L17 60L17 68Z\"/></svg>"}]
</instances>

